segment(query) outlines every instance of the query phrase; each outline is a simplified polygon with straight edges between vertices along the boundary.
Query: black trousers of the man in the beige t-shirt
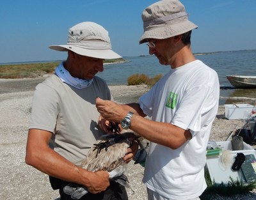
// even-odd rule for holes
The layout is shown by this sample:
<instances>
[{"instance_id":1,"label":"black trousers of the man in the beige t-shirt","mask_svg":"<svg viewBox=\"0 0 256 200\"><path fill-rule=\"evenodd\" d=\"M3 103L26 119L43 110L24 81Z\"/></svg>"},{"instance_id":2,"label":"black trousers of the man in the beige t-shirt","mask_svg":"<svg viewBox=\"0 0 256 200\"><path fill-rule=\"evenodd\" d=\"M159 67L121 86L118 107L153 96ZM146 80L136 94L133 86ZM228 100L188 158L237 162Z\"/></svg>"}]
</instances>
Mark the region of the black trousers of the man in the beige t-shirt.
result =
<instances>
[{"instance_id":1,"label":"black trousers of the man in the beige t-shirt","mask_svg":"<svg viewBox=\"0 0 256 200\"><path fill-rule=\"evenodd\" d=\"M73 200L68 194L63 192L63 187L68 185L68 182L53 178L50 176L50 182L52 188L59 189L60 191L60 199L61 200ZM123 185L116 183L115 181L110 181L109 187L104 191L98 194L88 193L81 197L79 200L128 200L127 192Z\"/></svg>"}]
</instances>

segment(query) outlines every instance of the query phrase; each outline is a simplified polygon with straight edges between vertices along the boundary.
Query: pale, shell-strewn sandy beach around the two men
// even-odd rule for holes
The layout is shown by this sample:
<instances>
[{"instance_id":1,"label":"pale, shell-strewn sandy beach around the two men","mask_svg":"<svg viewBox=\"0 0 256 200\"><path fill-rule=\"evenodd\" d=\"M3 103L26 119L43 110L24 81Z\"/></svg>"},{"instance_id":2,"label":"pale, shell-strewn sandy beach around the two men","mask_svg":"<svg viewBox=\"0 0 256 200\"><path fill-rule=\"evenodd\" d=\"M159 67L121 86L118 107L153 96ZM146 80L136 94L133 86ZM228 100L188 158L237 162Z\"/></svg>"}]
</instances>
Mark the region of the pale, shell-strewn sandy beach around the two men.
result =
<instances>
[{"instance_id":1,"label":"pale, shell-strewn sandy beach around the two men","mask_svg":"<svg viewBox=\"0 0 256 200\"><path fill-rule=\"evenodd\" d=\"M36 79L0 79L0 199L57 199L58 192L52 190L48 176L24 162L26 139ZM147 86L109 86L117 102L137 102L147 91ZM243 102L244 103L244 102ZM225 109L219 107L211 132L211 141L225 141L243 120L228 120ZM129 199L147 199L145 186L141 182L143 167L130 162L125 173L130 181L127 188ZM245 198L244 198L245 197ZM255 199L255 193L236 197L211 197L211 199Z\"/></svg>"}]
</instances>

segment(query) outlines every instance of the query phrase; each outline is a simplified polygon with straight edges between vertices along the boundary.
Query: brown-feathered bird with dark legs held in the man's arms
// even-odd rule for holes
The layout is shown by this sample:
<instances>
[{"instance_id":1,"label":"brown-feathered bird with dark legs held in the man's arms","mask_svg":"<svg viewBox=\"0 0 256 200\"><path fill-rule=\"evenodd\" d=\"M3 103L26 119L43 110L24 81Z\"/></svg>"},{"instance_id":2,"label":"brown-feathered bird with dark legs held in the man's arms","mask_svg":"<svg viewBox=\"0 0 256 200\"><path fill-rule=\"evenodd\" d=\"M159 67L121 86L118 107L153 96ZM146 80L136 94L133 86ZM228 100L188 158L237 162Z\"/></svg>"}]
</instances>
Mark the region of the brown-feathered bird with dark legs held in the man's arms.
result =
<instances>
[{"instance_id":1,"label":"brown-feathered bird with dark legs held in the man's arms","mask_svg":"<svg viewBox=\"0 0 256 200\"><path fill-rule=\"evenodd\" d=\"M90 148L88 155L81 163L81 167L88 171L108 171L109 180L115 180L116 182L124 185L125 187L130 187L128 184L127 176L124 172L127 169L127 163L124 162L123 158L127 153L127 148L132 145L132 141L136 139L140 146L140 151L136 153L134 158L136 158L135 163L145 162L145 157L147 153L141 153L141 150L146 150L148 148L148 142L146 146L141 137L135 134L132 130L122 130L115 127L113 134L104 134L93 144ZM88 193L88 190L83 185L77 185L76 183L70 183L63 188L65 194L71 196L72 199L80 199L82 196Z\"/></svg>"}]
</instances>

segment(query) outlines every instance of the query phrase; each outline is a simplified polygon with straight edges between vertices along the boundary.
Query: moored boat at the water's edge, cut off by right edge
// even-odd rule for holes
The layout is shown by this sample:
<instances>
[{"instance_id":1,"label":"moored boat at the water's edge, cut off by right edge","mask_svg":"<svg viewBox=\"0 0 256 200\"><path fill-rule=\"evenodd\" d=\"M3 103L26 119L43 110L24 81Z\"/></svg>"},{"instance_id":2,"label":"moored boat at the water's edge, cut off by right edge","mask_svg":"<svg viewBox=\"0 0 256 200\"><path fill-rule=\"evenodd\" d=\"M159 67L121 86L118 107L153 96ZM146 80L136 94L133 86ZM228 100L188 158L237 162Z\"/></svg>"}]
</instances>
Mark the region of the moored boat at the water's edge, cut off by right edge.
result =
<instances>
[{"instance_id":1,"label":"moored boat at the water's edge, cut off by right edge","mask_svg":"<svg viewBox=\"0 0 256 200\"><path fill-rule=\"evenodd\" d=\"M256 76L226 75L226 77L235 88L256 88Z\"/></svg>"}]
</instances>

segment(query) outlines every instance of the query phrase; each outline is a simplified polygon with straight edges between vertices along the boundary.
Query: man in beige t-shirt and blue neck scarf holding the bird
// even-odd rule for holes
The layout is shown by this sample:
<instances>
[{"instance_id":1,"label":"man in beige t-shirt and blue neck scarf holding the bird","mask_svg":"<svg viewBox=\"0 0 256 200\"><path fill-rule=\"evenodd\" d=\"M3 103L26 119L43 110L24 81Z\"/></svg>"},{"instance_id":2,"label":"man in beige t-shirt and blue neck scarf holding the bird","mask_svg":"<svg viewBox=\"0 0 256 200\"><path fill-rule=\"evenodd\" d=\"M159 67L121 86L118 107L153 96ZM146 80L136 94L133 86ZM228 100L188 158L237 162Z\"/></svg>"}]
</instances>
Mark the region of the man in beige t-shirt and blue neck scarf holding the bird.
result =
<instances>
[{"instance_id":1,"label":"man in beige t-shirt and blue neck scarf holding the bird","mask_svg":"<svg viewBox=\"0 0 256 200\"><path fill-rule=\"evenodd\" d=\"M108 31L93 22L71 27L67 45L50 48L67 51L68 57L36 86L26 163L49 174L52 188L60 189L61 199L71 199L63 192L68 182L88 188L90 193L81 199L127 199L122 185L111 181L109 186L106 171L92 173L79 167L103 134L97 128L95 99L112 99L106 82L95 75L104 70L104 59L121 56L111 50ZM131 160L131 152L129 148L124 160Z\"/></svg>"}]
</instances>

